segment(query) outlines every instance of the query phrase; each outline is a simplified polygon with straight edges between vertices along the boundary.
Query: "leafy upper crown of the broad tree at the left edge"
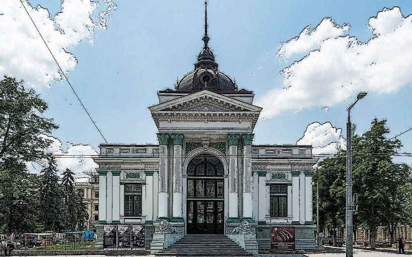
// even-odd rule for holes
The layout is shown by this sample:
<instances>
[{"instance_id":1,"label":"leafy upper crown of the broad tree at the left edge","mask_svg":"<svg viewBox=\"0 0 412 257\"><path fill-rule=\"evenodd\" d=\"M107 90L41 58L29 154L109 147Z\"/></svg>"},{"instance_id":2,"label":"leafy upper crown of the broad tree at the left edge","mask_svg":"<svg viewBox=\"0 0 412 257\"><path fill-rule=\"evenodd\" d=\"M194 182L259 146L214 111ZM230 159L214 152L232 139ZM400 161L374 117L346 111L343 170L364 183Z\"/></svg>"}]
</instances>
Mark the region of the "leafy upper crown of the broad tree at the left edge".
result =
<instances>
[{"instance_id":1,"label":"leafy upper crown of the broad tree at the left edge","mask_svg":"<svg viewBox=\"0 0 412 257\"><path fill-rule=\"evenodd\" d=\"M7 76L0 81L0 170L45 158L43 150L51 141L38 136L58 127L44 117L46 109L47 103L23 81Z\"/></svg>"}]
</instances>

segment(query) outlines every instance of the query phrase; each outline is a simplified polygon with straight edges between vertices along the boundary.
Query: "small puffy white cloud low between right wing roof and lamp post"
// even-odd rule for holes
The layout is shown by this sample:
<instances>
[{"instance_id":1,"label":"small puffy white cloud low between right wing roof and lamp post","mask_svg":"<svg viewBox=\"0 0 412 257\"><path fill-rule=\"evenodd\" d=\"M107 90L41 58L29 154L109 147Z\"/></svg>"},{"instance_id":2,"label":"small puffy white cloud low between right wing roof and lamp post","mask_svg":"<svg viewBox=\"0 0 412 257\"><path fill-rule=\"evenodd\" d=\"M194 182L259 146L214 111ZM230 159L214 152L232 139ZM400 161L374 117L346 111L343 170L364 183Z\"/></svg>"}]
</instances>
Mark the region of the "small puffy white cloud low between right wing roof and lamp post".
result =
<instances>
[{"instance_id":1,"label":"small puffy white cloud low between right wing roof and lamp post","mask_svg":"<svg viewBox=\"0 0 412 257\"><path fill-rule=\"evenodd\" d=\"M332 126L331 122L323 124L313 122L306 127L303 137L300 138L297 145L312 145L312 153L318 154L335 154L338 149L346 149L346 140L342 137L342 129Z\"/></svg>"}]
</instances>

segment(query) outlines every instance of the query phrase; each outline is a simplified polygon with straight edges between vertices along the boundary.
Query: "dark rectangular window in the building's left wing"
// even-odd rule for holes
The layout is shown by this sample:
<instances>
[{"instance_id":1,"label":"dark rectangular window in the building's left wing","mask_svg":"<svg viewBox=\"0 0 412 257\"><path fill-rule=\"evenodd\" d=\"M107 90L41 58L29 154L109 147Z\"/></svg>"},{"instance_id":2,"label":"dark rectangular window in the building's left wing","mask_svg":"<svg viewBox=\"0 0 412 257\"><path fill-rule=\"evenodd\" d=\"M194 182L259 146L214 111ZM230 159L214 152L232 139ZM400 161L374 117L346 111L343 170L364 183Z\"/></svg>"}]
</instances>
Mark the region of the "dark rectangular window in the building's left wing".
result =
<instances>
[{"instance_id":1,"label":"dark rectangular window in the building's left wing","mask_svg":"<svg viewBox=\"0 0 412 257\"><path fill-rule=\"evenodd\" d=\"M125 216L142 215L142 184L125 185Z\"/></svg>"}]
</instances>

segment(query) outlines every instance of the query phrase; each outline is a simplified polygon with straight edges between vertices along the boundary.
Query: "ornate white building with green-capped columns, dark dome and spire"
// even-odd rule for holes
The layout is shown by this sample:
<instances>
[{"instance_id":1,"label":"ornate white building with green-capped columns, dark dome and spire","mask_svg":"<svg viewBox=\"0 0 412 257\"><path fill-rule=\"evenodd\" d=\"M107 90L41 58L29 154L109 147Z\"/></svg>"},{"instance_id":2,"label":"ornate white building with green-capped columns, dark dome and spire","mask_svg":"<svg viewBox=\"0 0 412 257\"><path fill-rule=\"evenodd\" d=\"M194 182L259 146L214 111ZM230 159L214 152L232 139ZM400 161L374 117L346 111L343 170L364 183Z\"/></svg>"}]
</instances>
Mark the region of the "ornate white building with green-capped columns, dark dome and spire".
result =
<instances>
[{"instance_id":1,"label":"ornate white building with green-capped columns, dark dome and spire","mask_svg":"<svg viewBox=\"0 0 412 257\"><path fill-rule=\"evenodd\" d=\"M194 70L149 107L159 144L100 145L99 224L146 225L152 252L184 234L270 249L272 226L295 227L295 248L314 249L312 146L253 145L262 108L219 71L207 25L202 40Z\"/></svg>"}]
</instances>

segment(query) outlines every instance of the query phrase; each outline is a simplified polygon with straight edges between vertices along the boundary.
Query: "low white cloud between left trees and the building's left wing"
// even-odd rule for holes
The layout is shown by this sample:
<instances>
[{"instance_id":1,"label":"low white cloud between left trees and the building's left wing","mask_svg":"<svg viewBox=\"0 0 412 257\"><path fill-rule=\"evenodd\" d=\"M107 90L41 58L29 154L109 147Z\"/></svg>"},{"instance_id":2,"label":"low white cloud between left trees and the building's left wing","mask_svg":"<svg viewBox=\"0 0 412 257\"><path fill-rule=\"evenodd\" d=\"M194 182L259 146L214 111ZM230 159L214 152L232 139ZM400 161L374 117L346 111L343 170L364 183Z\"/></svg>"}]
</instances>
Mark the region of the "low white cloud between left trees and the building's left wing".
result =
<instances>
[{"instance_id":1,"label":"low white cloud between left trees and the building's left wing","mask_svg":"<svg viewBox=\"0 0 412 257\"><path fill-rule=\"evenodd\" d=\"M75 173L75 178L83 178L83 179L77 179L79 181L84 181L84 177L86 175L83 172L87 171L95 171L94 169L97 168L97 164L93 161L91 158L80 158L76 157L78 155L97 155L97 152L94 150L94 148L90 145L74 145L70 142L66 143L66 151L62 149L62 143L60 140L57 138L47 136L47 135L39 135L39 137L48 139L52 143L50 147L46 150L48 153L52 153L54 155L61 155L61 158L56 158L57 161L57 168L60 172L70 169ZM67 157L70 158L67 158ZM71 157L74 156L74 157ZM40 170L42 169L43 164L34 164L34 163L28 163L27 166L31 172L34 173L39 173ZM76 181L77 181L76 180ZM87 180L87 179L86 179Z\"/></svg>"}]
</instances>

